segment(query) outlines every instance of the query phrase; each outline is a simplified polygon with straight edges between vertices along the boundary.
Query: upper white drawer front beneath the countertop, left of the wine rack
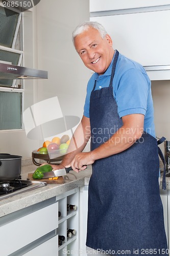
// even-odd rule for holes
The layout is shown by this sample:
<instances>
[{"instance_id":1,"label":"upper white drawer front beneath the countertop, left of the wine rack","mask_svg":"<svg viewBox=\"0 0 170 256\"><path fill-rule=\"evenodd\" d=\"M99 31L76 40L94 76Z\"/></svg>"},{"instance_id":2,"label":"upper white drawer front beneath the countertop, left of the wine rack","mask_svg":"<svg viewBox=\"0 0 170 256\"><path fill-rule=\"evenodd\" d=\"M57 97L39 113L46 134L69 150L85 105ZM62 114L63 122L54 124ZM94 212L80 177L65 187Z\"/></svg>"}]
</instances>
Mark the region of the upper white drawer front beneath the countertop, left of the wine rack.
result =
<instances>
[{"instance_id":1,"label":"upper white drawer front beneath the countertop, left of the wine rack","mask_svg":"<svg viewBox=\"0 0 170 256\"><path fill-rule=\"evenodd\" d=\"M18 214L18 219L0 227L0 254L1 256L9 255L57 227L58 203L48 205L21 218Z\"/></svg>"}]
</instances>

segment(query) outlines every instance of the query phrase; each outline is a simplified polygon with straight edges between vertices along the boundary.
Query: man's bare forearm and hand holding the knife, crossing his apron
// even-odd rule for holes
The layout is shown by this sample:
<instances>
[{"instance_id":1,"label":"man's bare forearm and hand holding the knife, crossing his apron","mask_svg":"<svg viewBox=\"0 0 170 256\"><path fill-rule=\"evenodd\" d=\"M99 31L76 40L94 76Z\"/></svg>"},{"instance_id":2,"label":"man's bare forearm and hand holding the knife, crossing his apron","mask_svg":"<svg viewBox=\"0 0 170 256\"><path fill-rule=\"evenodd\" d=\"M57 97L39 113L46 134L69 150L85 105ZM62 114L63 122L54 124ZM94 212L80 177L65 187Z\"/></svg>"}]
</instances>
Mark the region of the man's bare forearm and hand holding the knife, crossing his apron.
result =
<instances>
[{"instance_id":1,"label":"man's bare forearm and hand holding the knife, crossing his apron","mask_svg":"<svg viewBox=\"0 0 170 256\"><path fill-rule=\"evenodd\" d=\"M131 114L122 117L122 120L123 126L108 141L91 152L77 154L69 166L79 172L95 160L123 152L132 146L143 133L144 115Z\"/></svg>"}]
</instances>

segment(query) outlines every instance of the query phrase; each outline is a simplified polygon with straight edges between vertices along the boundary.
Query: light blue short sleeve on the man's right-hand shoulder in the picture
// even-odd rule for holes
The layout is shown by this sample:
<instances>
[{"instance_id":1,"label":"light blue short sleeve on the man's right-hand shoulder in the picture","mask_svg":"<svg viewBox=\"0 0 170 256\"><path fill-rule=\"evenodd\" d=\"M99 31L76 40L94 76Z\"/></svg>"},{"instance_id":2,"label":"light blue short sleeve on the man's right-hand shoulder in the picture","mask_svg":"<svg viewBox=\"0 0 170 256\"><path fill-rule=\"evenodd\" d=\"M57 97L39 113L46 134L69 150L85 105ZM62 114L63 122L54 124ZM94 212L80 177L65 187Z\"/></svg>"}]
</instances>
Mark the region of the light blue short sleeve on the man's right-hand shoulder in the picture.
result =
<instances>
[{"instance_id":1,"label":"light blue short sleeve on the man's right-hand shoulder in the picture","mask_svg":"<svg viewBox=\"0 0 170 256\"><path fill-rule=\"evenodd\" d=\"M127 70L119 80L115 93L118 115L143 114L147 111L149 84L147 77L140 70Z\"/></svg>"}]
</instances>

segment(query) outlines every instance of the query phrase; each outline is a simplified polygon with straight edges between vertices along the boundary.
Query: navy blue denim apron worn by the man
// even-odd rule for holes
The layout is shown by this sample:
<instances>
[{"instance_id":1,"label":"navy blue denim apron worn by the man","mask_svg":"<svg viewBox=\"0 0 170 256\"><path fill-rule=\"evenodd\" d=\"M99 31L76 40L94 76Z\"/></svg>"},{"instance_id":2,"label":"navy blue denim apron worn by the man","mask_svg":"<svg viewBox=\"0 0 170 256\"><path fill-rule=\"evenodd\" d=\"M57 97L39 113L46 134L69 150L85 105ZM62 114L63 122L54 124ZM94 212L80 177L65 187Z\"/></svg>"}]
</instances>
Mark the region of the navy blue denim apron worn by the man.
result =
<instances>
[{"instance_id":1,"label":"navy blue denim apron worn by the man","mask_svg":"<svg viewBox=\"0 0 170 256\"><path fill-rule=\"evenodd\" d=\"M91 150L123 125L113 97L117 58L118 51L109 87L94 90L94 84L91 92ZM168 255L158 177L157 140L144 132L124 152L96 160L89 181L86 245L111 255Z\"/></svg>"}]
</instances>

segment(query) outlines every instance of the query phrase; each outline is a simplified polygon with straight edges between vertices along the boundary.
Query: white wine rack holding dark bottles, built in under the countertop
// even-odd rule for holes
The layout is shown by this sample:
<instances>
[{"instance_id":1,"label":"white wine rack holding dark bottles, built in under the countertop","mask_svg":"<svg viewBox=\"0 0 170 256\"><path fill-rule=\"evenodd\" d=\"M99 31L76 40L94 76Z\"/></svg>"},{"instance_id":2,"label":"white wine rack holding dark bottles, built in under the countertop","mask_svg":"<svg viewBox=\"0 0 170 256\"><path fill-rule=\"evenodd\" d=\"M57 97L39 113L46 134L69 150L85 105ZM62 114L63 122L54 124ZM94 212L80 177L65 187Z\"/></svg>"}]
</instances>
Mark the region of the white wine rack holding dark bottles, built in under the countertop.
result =
<instances>
[{"instance_id":1,"label":"white wine rack holding dark bottles, built in under the countertop","mask_svg":"<svg viewBox=\"0 0 170 256\"><path fill-rule=\"evenodd\" d=\"M79 188L67 191L56 197L58 202L58 236L64 236L65 240L58 245L58 255L79 255ZM69 237L67 237L67 230ZM72 231L74 230L74 231Z\"/></svg>"}]
</instances>

